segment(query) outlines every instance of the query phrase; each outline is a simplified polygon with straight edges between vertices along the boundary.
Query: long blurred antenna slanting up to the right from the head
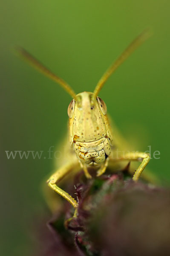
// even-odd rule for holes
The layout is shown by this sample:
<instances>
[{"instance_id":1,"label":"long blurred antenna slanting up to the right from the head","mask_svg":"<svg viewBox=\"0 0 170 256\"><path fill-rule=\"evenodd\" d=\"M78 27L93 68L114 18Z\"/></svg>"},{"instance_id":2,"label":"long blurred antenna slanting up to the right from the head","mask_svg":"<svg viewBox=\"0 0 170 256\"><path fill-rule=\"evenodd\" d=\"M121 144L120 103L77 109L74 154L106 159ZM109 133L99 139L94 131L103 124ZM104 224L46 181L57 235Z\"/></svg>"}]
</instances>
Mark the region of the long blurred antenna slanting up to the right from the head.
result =
<instances>
[{"instance_id":1,"label":"long blurred antenna slanting up to the right from the head","mask_svg":"<svg viewBox=\"0 0 170 256\"><path fill-rule=\"evenodd\" d=\"M104 73L101 79L98 81L98 84L95 87L93 100L98 96L101 88L104 86L104 83L107 81L109 76L112 75L113 72L138 48L144 41L147 40L151 35L150 29L145 29L141 32L138 37L136 37L132 43L124 50L124 52L115 60L115 62L108 68L108 70Z\"/></svg>"}]
</instances>

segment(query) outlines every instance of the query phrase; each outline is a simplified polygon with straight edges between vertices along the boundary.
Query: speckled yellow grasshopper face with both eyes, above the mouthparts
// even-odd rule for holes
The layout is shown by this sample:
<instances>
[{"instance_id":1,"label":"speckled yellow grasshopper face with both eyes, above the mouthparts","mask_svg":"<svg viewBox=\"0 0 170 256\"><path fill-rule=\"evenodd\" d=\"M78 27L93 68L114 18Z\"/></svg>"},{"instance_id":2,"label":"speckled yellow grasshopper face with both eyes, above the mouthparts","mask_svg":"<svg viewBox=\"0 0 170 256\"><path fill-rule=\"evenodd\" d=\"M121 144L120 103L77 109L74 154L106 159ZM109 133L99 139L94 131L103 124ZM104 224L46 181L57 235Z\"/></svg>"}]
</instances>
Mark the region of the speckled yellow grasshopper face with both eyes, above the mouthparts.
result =
<instances>
[{"instance_id":1,"label":"speckled yellow grasshopper face with both eyes, above the mouthparts","mask_svg":"<svg viewBox=\"0 0 170 256\"><path fill-rule=\"evenodd\" d=\"M107 107L94 93L78 93L69 104L69 135L72 142L91 142L107 135Z\"/></svg>"}]
</instances>

